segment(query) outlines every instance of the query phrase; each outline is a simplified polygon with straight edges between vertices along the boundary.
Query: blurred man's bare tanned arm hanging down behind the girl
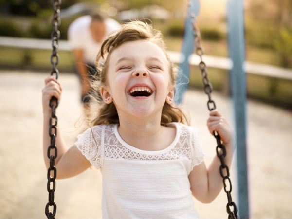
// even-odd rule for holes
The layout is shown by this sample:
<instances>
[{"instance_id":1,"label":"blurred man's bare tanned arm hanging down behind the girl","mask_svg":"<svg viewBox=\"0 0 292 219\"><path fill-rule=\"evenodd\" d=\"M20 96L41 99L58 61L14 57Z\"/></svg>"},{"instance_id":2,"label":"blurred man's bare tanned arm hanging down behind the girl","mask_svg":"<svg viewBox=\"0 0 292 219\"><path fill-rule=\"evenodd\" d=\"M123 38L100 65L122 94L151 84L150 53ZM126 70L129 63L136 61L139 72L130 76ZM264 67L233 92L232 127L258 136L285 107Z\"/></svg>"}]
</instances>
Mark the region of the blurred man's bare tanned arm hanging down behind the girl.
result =
<instances>
[{"instance_id":1,"label":"blurred man's bare tanned arm hanging down behind the girl","mask_svg":"<svg viewBox=\"0 0 292 219\"><path fill-rule=\"evenodd\" d=\"M82 49L73 49L76 68L82 81L82 94L87 94L90 90L88 67L84 61L84 51Z\"/></svg>"}]
</instances>

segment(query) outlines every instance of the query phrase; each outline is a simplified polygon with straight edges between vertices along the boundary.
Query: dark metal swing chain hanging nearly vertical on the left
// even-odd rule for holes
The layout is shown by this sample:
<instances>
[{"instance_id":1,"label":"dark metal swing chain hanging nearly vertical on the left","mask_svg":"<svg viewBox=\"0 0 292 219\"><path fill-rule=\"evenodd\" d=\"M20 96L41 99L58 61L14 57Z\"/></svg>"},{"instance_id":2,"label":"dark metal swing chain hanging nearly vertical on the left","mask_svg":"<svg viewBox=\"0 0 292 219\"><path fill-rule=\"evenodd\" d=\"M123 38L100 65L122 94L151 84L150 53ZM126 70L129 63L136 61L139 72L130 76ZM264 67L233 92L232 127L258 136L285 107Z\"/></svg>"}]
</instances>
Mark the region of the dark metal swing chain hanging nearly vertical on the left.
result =
<instances>
[{"instance_id":1,"label":"dark metal swing chain hanging nearly vertical on the left","mask_svg":"<svg viewBox=\"0 0 292 219\"><path fill-rule=\"evenodd\" d=\"M52 26L54 28L51 39L52 39L52 47L53 52L51 55L51 64L52 64L52 71L51 75L55 74L55 78L58 79L59 71L57 69L57 64L59 63L59 55L57 53L58 50L58 42L60 39L60 31L58 30L58 26L61 24L60 19L60 4L61 0L52 0L53 4L53 18L51 20ZM48 158L50 159L50 167L48 169L48 184L47 189L49 192L49 202L46 205L45 213L48 219L55 219L55 214L57 210L57 206L54 202L55 198L55 188L56 188L56 176L57 176L57 170L55 167L55 158L57 157L57 147L55 145L56 142L56 136L57 136L57 122L58 118L55 114L55 110L58 107L58 100L53 96L50 100L50 108L51 108L51 116L50 116L50 127L49 127L49 136L51 138L50 146L48 147ZM52 152L52 154L51 154ZM51 171L53 171L51 177ZM51 188L52 186L52 188ZM49 206L53 206L53 212L50 212Z\"/></svg>"}]
</instances>

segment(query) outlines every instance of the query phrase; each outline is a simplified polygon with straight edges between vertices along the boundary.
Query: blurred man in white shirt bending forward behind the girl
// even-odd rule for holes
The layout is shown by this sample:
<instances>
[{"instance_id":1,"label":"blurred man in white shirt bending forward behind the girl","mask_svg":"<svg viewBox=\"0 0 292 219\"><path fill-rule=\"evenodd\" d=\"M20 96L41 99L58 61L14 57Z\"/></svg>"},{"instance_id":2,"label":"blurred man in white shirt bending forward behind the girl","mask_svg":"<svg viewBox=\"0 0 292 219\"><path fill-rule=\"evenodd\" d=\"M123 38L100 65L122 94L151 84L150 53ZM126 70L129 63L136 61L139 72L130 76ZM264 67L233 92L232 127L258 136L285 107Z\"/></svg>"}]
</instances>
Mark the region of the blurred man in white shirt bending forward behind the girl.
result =
<instances>
[{"instance_id":1,"label":"blurred man in white shirt bending forward behind the girl","mask_svg":"<svg viewBox=\"0 0 292 219\"><path fill-rule=\"evenodd\" d=\"M81 79L82 101L89 102L89 76L96 71L96 56L102 41L110 32L120 29L120 24L104 18L99 13L82 16L74 20L68 29L68 39L75 59L75 67Z\"/></svg>"}]
</instances>

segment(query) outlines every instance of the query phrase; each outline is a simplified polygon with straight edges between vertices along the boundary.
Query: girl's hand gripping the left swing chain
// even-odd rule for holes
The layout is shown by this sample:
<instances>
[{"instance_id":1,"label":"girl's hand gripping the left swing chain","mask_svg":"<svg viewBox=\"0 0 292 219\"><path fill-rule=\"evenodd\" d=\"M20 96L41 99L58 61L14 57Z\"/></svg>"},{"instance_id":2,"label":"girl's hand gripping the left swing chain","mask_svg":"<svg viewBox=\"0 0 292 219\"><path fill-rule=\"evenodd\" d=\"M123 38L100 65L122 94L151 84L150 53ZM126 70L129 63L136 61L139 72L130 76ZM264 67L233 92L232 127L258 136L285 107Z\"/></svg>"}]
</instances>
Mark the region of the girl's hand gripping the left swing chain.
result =
<instances>
[{"instance_id":1,"label":"girl's hand gripping the left swing chain","mask_svg":"<svg viewBox=\"0 0 292 219\"><path fill-rule=\"evenodd\" d=\"M60 101L62 93L62 86L53 76L49 76L45 79L45 87L42 90L42 104L43 111L50 112L51 108L49 106L50 100L53 96Z\"/></svg>"}]
</instances>

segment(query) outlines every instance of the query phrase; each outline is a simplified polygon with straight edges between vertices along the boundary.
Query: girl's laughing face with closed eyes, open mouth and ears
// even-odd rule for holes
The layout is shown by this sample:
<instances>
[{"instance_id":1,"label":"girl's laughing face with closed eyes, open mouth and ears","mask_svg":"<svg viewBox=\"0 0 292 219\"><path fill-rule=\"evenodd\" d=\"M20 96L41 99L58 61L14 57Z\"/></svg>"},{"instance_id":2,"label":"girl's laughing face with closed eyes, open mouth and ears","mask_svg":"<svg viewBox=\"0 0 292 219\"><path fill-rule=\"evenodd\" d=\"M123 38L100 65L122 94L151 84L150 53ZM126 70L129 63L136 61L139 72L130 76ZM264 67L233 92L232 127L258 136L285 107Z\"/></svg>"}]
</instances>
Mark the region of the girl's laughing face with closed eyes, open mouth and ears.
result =
<instances>
[{"instance_id":1,"label":"girl's laughing face with closed eyes, open mouth and ears","mask_svg":"<svg viewBox=\"0 0 292 219\"><path fill-rule=\"evenodd\" d=\"M115 48L101 95L106 103L113 101L119 117L161 116L165 100L170 104L174 96L164 51L147 40L125 42Z\"/></svg>"}]
</instances>

